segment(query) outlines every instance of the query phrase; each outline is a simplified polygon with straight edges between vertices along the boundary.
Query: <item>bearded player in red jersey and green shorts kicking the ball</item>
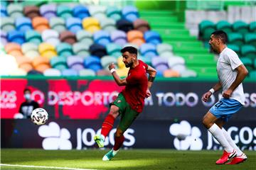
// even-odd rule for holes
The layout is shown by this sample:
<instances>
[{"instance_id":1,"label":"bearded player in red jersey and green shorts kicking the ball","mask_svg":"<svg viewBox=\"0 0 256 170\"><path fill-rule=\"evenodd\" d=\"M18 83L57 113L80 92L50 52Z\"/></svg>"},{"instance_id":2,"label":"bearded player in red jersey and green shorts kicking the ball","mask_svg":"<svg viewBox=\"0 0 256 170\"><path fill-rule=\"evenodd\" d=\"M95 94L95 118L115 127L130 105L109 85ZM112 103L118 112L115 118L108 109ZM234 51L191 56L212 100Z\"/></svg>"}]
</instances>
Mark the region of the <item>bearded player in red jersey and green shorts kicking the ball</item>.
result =
<instances>
[{"instance_id":1,"label":"bearded player in red jersey and green shorts kicking the ball","mask_svg":"<svg viewBox=\"0 0 256 170\"><path fill-rule=\"evenodd\" d=\"M137 59L137 48L124 47L122 57L125 67L129 67L128 75L125 79L120 79L115 72L114 64L110 64L109 69L118 86L125 86L117 99L110 107L110 113L102 123L101 135L95 135L94 140L99 147L104 147L105 137L113 128L114 120L120 115L121 119L114 135L114 147L102 158L103 161L111 160L119 151L124 142L124 132L132 125L139 113L142 113L144 107L144 99L151 96L149 91L156 70L141 60ZM149 78L146 77L149 74Z\"/></svg>"}]
</instances>

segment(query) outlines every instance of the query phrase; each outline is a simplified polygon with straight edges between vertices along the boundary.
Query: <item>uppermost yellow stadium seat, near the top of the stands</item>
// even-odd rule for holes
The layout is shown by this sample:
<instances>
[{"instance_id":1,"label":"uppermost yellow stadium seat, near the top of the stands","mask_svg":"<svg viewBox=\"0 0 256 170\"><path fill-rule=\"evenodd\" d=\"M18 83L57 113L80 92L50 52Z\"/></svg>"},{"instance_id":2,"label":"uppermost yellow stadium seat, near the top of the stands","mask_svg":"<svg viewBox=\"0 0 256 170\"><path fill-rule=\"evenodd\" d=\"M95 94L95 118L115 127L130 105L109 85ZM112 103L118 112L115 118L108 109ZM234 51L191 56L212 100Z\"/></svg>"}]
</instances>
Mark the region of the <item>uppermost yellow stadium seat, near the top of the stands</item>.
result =
<instances>
[{"instance_id":1,"label":"uppermost yellow stadium seat, near the top of the stands","mask_svg":"<svg viewBox=\"0 0 256 170\"><path fill-rule=\"evenodd\" d=\"M82 27L90 33L100 30L100 23L96 18L88 17L82 20Z\"/></svg>"}]
</instances>

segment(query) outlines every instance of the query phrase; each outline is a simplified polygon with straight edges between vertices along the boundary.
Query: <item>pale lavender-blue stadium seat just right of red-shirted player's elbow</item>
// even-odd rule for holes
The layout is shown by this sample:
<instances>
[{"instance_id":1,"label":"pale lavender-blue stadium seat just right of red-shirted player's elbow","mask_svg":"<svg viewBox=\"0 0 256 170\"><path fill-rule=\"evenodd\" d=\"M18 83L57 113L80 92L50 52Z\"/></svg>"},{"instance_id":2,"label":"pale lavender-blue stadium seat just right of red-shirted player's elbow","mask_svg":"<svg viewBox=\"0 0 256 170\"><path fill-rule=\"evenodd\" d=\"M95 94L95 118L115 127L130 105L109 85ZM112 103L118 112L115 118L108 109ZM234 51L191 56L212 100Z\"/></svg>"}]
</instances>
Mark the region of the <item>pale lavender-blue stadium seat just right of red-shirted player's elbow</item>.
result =
<instances>
[{"instance_id":1,"label":"pale lavender-blue stadium seat just right of red-shirted player's elbow","mask_svg":"<svg viewBox=\"0 0 256 170\"><path fill-rule=\"evenodd\" d=\"M153 57L152 58L152 65L157 71L157 75L163 76L164 71L169 69L168 67L168 60L162 57Z\"/></svg>"}]
</instances>

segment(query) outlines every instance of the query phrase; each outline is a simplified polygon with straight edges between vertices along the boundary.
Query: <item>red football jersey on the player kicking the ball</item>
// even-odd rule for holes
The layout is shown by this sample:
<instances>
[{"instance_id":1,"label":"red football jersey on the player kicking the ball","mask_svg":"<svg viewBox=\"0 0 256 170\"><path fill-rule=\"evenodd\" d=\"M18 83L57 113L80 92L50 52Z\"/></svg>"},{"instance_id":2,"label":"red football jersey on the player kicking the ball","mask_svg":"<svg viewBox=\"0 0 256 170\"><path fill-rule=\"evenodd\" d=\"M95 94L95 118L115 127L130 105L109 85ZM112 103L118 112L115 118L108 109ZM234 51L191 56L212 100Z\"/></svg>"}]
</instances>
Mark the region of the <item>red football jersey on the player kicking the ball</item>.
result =
<instances>
[{"instance_id":1,"label":"red football jersey on the player kicking the ball","mask_svg":"<svg viewBox=\"0 0 256 170\"><path fill-rule=\"evenodd\" d=\"M125 100L134 111L142 113L144 107L144 99L146 98L146 89L148 79L146 70L148 65L139 60L139 64L135 68L130 68L127 76L127 85L122 90Z\"/></svg>"}]
</instances>

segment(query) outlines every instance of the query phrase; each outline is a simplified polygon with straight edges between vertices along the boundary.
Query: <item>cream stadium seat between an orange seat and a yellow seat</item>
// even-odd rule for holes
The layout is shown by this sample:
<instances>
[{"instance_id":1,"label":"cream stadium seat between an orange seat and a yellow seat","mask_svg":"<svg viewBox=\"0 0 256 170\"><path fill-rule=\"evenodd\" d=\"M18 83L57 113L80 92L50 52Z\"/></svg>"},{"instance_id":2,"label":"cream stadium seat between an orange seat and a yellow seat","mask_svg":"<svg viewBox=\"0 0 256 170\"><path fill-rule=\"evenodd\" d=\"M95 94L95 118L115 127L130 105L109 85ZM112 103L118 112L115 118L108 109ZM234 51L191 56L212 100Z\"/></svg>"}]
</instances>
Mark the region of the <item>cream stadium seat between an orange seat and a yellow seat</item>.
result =
<instances>
[{"instance_id":1,"label":"cream stadium seat between an orange seat and a yellow seat","mask_svg":"<svg viewBox=\"0 0 256 170\"><path fill-rule=\"evenodd\" d=\"M30 60L40 56L38 53L38 45L32 42L23 43L23 45L21 45L21 50Z\"/></svg>"}]
</instances>

